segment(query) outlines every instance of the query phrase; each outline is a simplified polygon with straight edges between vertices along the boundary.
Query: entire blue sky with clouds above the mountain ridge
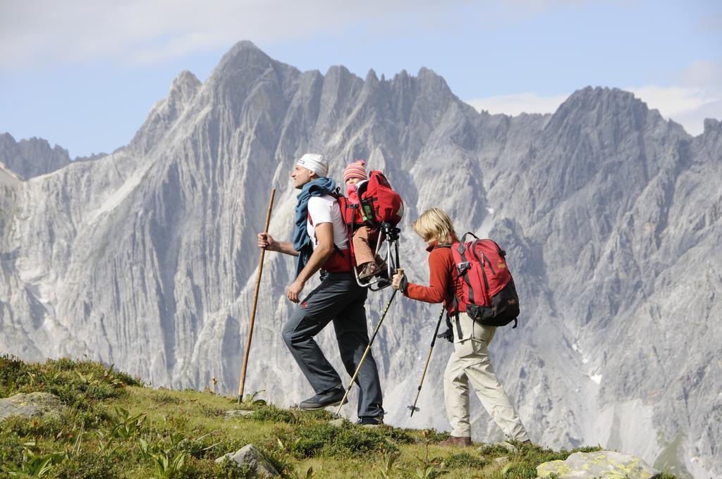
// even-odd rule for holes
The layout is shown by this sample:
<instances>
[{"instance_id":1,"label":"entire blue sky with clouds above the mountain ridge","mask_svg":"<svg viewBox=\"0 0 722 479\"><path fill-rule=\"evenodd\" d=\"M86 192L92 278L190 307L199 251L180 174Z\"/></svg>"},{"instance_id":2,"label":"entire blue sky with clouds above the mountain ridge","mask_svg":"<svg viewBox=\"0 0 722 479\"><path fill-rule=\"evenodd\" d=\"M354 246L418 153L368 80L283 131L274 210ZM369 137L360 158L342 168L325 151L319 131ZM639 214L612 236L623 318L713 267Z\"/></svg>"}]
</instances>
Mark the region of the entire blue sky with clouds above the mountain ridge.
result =
<instances>
[{"instance_id":1,"label":"entire blue sky with clouds above the mountain ridge","mask_svg":"<svg viewBox=\"0 0 722 479\"><path fill-rule=\"evenodd\" d=\"M722 118L722 1L97 0L0 3L0 132L71 157L127 144L181 70L238 40L322 73L426 66L478 109L628 89L692 134Z\"/></svg>"}]
</instances>

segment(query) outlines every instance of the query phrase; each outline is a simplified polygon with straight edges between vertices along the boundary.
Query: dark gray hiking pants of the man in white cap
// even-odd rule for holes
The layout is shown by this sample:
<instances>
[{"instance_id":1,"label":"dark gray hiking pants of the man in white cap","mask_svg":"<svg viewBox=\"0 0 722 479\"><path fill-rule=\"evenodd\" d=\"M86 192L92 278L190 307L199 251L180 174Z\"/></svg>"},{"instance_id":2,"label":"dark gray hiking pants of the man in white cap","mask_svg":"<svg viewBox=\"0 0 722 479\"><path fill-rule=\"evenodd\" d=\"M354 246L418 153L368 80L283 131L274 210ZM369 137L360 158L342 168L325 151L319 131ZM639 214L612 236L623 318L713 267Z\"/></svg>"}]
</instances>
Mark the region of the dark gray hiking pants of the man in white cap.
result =
<instances>
[{"instance_id":1,"label":"dark gray hiking pants of the man in white cap","mask_svg":"<svg viewBox=\"0 0 722 479\"><path fill-rule=\"evenodd\" d=\"M369 343L364 307L367 291L356 284L351 273L327 273L283 327L283 339L316 394L338 387L342 380L313 336L333 321L341 360L349 376L353 376ZM360 388L357 415L360 418L383 416L378 368L371 351L361 366L356 384Z\"/></svg>"}]
</instances>

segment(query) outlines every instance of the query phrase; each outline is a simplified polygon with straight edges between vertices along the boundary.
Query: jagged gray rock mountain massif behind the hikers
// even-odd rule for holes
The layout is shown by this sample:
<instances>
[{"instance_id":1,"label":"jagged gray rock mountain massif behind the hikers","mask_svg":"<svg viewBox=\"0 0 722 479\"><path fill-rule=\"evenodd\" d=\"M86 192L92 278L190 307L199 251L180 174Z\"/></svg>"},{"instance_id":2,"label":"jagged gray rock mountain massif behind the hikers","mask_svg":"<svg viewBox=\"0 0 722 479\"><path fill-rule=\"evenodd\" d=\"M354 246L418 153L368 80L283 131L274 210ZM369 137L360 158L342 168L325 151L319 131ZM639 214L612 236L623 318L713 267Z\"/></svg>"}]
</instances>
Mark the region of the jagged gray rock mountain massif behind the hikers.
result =
<instances>
[{"instance_id":1,"label":"jagged gray rock mountain massif behind the hikers","mask_svg":"<svg viewBox=\"0 0 722 479\"><path fill-rule=\"evenodd\" d=\"M235 392L256 233L277 188L270 232L290 239L288 176L307 151L338 180L357 158L386 173L406 203L412 281L428 269L410 224L430 206L508 251L520 327L491 349L534 442L722 475L722 126L692 138L619 89L582 89L553 115L489 115L427 69L300 72L239 43L203 84L181 74L129 146L25 182L0 171L12 205L0 210L0 351L85 353L157 386L217 377ZM282 406L312 394L279 335L292 271L266 254L245 384ZM370 328L390 294L370 294ZM438 305L391 305L373 346L387 423L448 429L448 343L420 412L406 410L437 317ZM318 342L343 371L332 328ZM472 413L474 440L503 439L476 400Z\"/></svg>"}]
</instances>

